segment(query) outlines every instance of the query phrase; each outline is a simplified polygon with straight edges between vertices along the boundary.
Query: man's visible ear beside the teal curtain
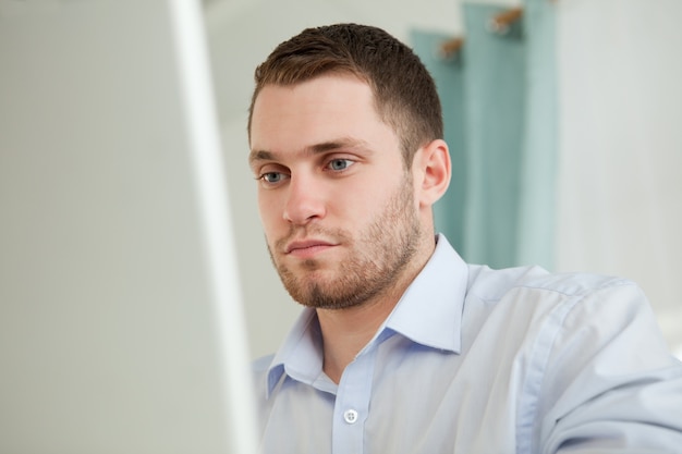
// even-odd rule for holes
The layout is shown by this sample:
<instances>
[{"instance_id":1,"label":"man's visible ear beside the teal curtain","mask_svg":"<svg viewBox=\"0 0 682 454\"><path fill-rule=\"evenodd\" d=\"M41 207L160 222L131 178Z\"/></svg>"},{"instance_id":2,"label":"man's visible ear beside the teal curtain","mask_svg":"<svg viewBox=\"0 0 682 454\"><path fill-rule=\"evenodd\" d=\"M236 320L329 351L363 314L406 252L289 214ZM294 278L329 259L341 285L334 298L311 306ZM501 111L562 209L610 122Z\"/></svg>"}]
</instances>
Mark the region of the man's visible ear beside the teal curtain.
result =
<instances>
[{"instance_id":1,"label":"man's visible ear beside the teal curtain","mask_svg":"<svg viewBox=\"0 0 682 454\"><path fill-rule=\"evenodd\" d=\"M450 152L444 140L436 139L422 147L414 162L418 168L415 173L415 189L418 192L419 206L434 205L448 189L452 169Z\"/></svg>"}]
</instances>

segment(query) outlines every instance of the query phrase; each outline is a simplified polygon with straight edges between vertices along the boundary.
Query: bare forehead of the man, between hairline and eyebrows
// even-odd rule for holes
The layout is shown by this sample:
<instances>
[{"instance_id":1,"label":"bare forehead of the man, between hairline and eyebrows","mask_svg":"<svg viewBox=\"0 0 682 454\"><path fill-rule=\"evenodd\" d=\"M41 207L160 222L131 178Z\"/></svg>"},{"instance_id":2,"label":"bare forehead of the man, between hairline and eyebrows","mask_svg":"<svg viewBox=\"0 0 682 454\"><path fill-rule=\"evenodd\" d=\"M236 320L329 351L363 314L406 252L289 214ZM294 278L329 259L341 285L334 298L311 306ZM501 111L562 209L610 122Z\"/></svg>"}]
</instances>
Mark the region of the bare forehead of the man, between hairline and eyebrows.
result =
<instances>
[{"instance_id":1,"label":"bare forehead of the man, between hairline and eyebrows","mask_svg":"<svg viewBox=\"0 0 682 454\"><path fill-rule=\"evenodd\" d=\"M267 85L251 124L252 149L304 148L339 137L373 143L393 131L379 119L369 85L352 75L325 75L292 86ZM388 144L386 144L388 145Z\"/></svg>"}]
</instances>

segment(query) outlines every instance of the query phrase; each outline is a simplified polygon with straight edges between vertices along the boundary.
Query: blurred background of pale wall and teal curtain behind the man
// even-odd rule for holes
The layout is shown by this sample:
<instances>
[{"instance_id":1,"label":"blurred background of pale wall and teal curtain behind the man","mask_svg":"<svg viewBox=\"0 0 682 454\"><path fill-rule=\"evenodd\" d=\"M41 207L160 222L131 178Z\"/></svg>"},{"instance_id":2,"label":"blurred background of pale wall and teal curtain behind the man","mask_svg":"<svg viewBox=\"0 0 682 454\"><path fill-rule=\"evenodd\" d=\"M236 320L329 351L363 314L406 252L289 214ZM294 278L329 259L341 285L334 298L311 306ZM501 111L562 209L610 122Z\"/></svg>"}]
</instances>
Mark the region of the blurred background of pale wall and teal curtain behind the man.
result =
<instances>
[{"instance_id":1,"label":"blurred background of pale wall and teal curtain behind the man","mask_svg":"<svg viewBox=\"0 0 682 454\"><path fill-rule=\"evenodd\" d=\"M632 279L682 356L682 2L204 3L254 357L300 307L271 267L246 163L253 71L336 22L387 29L435 75L454 163L437 224L466 260Z\"/></svg>"}]
</instances>

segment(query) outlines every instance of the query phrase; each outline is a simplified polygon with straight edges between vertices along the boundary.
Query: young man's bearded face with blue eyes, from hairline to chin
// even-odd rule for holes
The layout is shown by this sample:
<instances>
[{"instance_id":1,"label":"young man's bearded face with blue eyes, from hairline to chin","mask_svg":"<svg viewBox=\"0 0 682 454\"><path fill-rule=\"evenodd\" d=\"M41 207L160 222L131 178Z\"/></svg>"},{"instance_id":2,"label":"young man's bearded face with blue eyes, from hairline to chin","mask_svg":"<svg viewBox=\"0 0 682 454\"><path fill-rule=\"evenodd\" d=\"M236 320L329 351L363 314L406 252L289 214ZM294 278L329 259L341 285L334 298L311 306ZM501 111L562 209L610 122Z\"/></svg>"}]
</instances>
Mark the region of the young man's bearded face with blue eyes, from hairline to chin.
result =
<instances>
[{"instance_id":1,"label":"young man's bearded face with blue eyes, from hairline to chin","mask_svg":"<svg viewBox=\"0 0 682 454\"><path fill-rule=\"evenodd\" d=\"M390 290L422 230L412 173L368 85L336 75L266 86L251 146L268 248L292 297L344 308Z\"/></svg>"}]
</instances>

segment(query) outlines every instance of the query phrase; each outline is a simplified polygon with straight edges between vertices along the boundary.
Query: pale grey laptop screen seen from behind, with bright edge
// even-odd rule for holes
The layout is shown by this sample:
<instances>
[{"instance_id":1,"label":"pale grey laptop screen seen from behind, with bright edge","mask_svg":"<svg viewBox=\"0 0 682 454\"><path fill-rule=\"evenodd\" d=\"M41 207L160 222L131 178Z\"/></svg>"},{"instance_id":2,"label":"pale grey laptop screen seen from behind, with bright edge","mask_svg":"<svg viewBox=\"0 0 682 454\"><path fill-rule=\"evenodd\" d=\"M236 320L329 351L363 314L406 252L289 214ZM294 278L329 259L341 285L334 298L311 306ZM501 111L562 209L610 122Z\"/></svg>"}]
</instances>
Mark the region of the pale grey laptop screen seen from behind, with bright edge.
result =
<instances>
[{"instance_id":1,"label":"pale grey laptop screen seen from behind, with bright edge","mask_svg":"<svg viewBox=\"0 0 682 454\"><path fill-rule=\"evenodd\" d=\"M249 453L200 4L0 0L0 453Z\"/></svg>"}]
</instances>

